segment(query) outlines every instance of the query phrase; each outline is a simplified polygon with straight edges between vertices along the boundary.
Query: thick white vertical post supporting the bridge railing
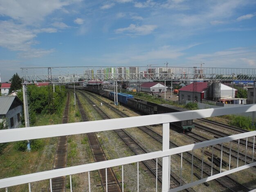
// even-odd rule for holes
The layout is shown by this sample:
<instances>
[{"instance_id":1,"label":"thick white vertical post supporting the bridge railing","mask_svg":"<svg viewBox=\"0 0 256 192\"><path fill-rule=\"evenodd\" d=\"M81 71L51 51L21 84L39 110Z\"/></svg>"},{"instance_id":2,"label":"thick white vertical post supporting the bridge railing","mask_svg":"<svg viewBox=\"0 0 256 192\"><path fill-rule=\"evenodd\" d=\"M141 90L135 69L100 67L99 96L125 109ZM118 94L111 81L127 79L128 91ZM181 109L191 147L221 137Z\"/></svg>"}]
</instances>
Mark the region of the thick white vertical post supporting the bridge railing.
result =
<instances>
[{"instance_id":1,"label":"thick white vertical post supporting the bridge railing","mask_svg":"<svg viewBox=\"0 0 256 192\"><path fill-rule=\"evenodd\" d=\"M170 124L163 124L163 151L169 150L169 142L170 142ZM162 191L169 190L169 156L163 157L162 161Z\"/></svg>"}]
</instances>

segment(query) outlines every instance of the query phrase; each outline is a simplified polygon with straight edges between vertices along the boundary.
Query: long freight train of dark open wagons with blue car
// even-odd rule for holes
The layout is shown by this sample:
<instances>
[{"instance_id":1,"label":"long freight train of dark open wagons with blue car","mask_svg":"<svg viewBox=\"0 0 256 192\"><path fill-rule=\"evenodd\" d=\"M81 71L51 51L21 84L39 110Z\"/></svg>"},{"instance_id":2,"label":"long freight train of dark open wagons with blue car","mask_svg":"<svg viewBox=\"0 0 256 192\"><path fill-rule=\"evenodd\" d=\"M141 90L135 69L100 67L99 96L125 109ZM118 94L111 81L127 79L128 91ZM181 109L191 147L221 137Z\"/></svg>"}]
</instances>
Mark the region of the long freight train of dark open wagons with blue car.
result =
<instances>
[{"instance_id":1,"label":"long freight train of dark open wagons with blue car","mask_svg":"<svg viewBox=\"0 0 256 192\"><path fill-rule=\"evenodd\" d=\"M74 86L70 85L67 88L74 89ZM101 96L104 96L106 98L110 98L110 99L114 100L115 93L113 92L113 90L92 89L92 88L83 87L83 86L75 86L75 89L93 92L93 93L99 94ZM146 100L134 98L133 95L125 94L125 93L118 93L117 98L118 98L119 103L122 103L122 104L127 105L137 111L140 111L140 112L143 112L144 114L149 114L149 115L187 111L187 109L175 107L173 105L157 104L157 103L148 102ZM171 124L175 125L179 129L182 129L183 132L185 132L185 131L191 132L191 130L194 128L193 119L186 120L186 121L177 121L177 122L173 122Z\"/></svg>"}]
</instances>

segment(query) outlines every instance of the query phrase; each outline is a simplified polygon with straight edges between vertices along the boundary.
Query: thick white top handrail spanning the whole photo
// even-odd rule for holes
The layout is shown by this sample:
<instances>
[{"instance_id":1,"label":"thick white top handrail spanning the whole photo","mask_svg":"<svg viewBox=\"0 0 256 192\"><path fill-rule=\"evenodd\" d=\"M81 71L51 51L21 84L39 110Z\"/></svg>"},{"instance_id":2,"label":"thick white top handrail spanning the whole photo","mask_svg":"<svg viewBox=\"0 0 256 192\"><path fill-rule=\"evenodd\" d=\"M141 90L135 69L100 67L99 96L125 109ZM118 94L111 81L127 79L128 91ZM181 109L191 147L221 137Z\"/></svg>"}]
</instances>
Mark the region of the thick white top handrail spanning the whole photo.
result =
<instances>
[{"instance_id":1,"label":"thick white top handrail spanning the whole photo","mask_svg":"<svg viewBox=\"0 0 256 192\"><path fill-rule=\"evenodd\" d=\"M73 134L84 134L90 132L101 132L115 129L125 129L129 127L139 127L143 125L162 124L175 121L184 121L189 119L206 118L212 116L221 116L253 111L256 111L256 104L232 108L221 107L213 109L200 109L185 112L116 118L80 123L26 127L21 129L4 129L0 130L0 143Z\"/></svg>"}]
</instances>

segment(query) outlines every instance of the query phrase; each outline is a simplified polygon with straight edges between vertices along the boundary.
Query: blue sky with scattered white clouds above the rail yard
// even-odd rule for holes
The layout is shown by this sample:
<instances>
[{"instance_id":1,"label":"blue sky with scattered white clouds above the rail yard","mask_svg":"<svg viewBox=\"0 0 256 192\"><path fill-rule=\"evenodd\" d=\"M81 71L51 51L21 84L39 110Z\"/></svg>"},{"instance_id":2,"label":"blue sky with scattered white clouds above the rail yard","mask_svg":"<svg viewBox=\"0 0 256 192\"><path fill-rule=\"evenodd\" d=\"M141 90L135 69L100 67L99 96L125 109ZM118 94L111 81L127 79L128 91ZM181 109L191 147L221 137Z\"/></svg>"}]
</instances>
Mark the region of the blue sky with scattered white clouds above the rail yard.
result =
<instances>
[{"instance_id":1,"label":"blue sky with scattered white clouds above the rail yard","mask_svg":"<svg viewBox=\"0 0 256 192\"><path fill-rule=\"evenodd\" d=\"M0 0L2 82L20 67L256 68L255 0Z\"/></svg>"}]
</instances>

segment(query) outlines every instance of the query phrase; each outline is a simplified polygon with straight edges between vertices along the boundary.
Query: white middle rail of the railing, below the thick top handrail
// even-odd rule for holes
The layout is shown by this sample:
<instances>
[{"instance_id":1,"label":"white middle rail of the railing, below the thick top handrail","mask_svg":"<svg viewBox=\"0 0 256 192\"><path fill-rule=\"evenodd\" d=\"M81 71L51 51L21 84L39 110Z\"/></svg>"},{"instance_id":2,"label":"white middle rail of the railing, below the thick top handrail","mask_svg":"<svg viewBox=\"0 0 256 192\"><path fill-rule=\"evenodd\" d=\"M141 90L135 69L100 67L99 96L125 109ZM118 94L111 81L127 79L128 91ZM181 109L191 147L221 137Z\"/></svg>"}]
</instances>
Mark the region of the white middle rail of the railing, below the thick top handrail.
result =
<instances>
[{"instance_id":1,"label":"white middle rail of the railing, below the thick top handrail","mask_svg":"<svg viewBox=\"0 0 256 192\"><path fill-rule=\"evenodd\" d=\"M104 169L104 168L108 168L108 167L115 167L115 166L119 166L119 165L135 163L135 162L139 162L139 161L146 161L149 159L161 158L164 156L170 156L170 155L179 154L182 152L188 152L191 150L195 150L195 149L199 149L199 148L207 147L207 146L211 146L211 145L216 145L219 143L227 143L230 141L234 141L237 139L246 138L246 137L250 137L250 136L256 136L256 131L241 133L241 134L237 134L237 135L231 135L231 136L217 138L217 139L213 139L213 140L209 140L209 141L203 141L203 142L195 143L195 144L191 144L191 145L184 145L184 146L176 147L176 148L169 149L166 151L151 152L151 153L147 153L147 154L129 156L129 157L113 159L113 160L108 160L108 161L101 161L101 162L97 162L97 163L90 163L90 164L85 164L85 165L78 165L78 166L73 166L73 167L66 167L66 168L61 168L61 169L56 169L56 170L49 170L49 171L38 172L38 173L33 173L33 174L26 174L26 175L22 175L22 176L10 177L10 178L6 178L6 179L0 179L0 188L5 188L5 187L13 186L13 185L20 185L20 184L24 184L24 183L31 183L34 181L40 181L40 180L45 180L45 179L52 179L52 178L59 177L59 176L66 176L66 175L78 174L78 173L83 173L83 172L88 172L88 171L93 171L93 170L99 170L99 169ZM255 166L255 163L256 162L251 163L252 165L248 164L245 168ZM233 170L233 172L234 172L234 170ZM228 173L229 172L227 172L226 174L228 174ZM222 174L225 174L225 173L222 173ZM215 177L213 177L213 179L215 179ZM207 181L209 181L209 180L207 180ZM202 183L203 182L204 182L204 180L202 180Z\"/></svg>"}]
</instances>

